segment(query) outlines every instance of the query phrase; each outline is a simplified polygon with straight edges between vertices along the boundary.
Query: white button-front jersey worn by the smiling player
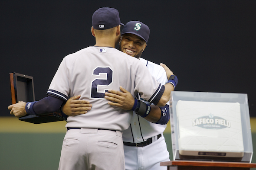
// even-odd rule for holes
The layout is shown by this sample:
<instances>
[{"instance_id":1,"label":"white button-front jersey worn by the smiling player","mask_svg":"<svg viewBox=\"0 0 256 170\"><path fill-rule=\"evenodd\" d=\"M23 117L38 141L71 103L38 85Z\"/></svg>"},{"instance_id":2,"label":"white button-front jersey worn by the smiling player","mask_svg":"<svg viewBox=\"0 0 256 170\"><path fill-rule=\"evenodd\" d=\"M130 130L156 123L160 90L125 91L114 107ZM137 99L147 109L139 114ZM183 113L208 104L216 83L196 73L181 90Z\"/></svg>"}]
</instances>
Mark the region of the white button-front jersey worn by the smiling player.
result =
<instances>
[{"instance_id":1,"label":"white button-front jersey worn by the smiling player","mask_svg":"<svg viewBox=\"0 0 256 170\"><path fill-rule=\"evenodd\" d=\"M168 81L166 72L162 66L151 61L147 61L143 58L140 58L140 61L148 68L151 75L155 77L158 82L165 84ZM141 96L141 98L143 97ZM167 104L169 104L169 102ZM123 131L123 141L140 143L146 141L148 138L152 138L163 133L165 128L166 125L149 122L134 113L130 127Z\"/></svg>"}]
</instances>

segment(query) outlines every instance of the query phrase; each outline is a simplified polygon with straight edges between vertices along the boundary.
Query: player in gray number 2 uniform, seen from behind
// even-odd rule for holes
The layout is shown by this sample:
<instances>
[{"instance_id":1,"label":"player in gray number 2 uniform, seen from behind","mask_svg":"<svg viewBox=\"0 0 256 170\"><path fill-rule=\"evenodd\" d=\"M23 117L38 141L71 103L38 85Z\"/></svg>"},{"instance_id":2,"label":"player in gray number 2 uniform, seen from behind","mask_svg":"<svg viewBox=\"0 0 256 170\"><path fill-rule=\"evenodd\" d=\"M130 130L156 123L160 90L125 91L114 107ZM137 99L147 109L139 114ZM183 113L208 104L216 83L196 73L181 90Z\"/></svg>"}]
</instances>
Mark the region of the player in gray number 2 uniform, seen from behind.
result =
<instances>
[{"instance_id":1,"label":"player in gray number 2 uniform, seen from behind","mask_svg":"<svg viewBox=\"0 0 256 170\"><path fill-rule=\"evenodd\" d=\"M78 94L94 106L87 114L67 118L59 170L125 169L122 131L129 127L133 113L108 105L104 98L108 89L123 86L132 96L141 93L143 99L159 106L167 103L173 90L171 75L163 86L143 63L114 48L120 38L120 24L117 10L96 10L92 16L95 45L63 58L46 98L8 106L16 117L40 115L58 110L68 96ZM147 114L150 108L144 106L136 102L134 110Z\"/></svg>"}]
</instances>

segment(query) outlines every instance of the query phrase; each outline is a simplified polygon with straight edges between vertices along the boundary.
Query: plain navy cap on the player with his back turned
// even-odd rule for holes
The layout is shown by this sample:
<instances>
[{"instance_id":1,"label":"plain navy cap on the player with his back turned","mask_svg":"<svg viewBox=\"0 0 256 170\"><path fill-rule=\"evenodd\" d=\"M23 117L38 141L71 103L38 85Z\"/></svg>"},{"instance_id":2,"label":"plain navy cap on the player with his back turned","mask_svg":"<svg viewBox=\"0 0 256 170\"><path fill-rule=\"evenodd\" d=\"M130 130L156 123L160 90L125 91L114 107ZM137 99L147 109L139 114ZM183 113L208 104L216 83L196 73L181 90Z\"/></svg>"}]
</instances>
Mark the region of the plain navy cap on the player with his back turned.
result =
<instances>
[{"instance_id":1,"label":"plain navy cap on the player with his back turned","mask_svg":"<svg viewBox=\"0 0 256 170\"><path fill-rule=\"evenodd\" d=\"M118 25L124 26L120 21L119 12L115 8L99 8L92 15L94 29L110 29Z\"/></svg>"}]
</instances>

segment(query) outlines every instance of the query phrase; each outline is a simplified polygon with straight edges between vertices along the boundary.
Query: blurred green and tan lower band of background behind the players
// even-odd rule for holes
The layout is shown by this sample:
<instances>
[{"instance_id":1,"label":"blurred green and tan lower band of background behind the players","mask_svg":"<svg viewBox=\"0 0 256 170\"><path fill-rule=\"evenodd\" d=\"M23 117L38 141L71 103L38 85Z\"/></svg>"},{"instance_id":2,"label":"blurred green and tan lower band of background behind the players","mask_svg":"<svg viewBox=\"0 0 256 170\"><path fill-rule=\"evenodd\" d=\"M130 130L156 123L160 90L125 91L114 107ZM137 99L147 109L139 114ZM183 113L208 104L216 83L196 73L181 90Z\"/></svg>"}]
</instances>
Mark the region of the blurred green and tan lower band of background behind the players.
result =
<instances>
[{"instance_id":1,"label":"blurred green and tan lower band of background behind the players","mask_svg":"<svg viewBox=\"0 0 256 170\"><path fill-rule=\"evenodd\" d=\"M35 125L15 117L0 117L0 170L57 170L65 124L62 121ZM251 118L254 146L255 124L256 118ZM164 137L172 160L170 122ZM252 163L256 163L256 156L253 156Z\"/></svg>"}]
</instances>

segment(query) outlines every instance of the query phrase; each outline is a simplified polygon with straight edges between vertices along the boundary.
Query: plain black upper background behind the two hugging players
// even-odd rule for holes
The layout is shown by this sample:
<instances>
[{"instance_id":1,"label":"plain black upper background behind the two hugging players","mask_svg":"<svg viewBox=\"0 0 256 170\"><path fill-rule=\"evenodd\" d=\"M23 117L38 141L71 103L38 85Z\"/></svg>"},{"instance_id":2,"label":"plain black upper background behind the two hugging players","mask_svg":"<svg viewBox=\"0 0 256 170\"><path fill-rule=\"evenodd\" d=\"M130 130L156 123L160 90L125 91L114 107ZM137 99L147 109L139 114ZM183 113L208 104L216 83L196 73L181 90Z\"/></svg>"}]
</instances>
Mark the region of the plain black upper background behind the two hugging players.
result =
<instances>
[{"instance_id":1,"label":"plain black upper background behind the two hugging players","mask_svg":"<svg viewBox=\"0 0 256 170\"><path fill-rule=\"evenodd\" d=\"M256 116L255 0L2 0L1 116L11 104L9 73L33 76L36 100L66 55L95 44L92 14L116 8L122 23L138 20L151 34L142 57L165 63L176 90L247 93Z\"/></svg>"}]
</instances>

